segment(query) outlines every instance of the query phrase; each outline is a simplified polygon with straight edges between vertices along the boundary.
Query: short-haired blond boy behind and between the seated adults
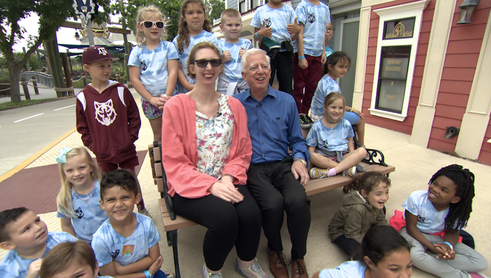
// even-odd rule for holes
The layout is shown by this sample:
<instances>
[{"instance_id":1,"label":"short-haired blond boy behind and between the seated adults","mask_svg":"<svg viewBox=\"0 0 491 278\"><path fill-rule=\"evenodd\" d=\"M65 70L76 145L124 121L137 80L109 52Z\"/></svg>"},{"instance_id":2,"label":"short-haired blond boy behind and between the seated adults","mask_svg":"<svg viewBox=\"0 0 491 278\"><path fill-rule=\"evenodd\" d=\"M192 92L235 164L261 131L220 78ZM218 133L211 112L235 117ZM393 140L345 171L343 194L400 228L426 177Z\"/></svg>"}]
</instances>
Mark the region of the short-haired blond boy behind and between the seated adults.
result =
<instances>
[{"instance_id":1,"label":"short-haired blond boy behind and between the seated adults","mask_svg":"<svg viewBox=\"0 0 491 278\"><path fill-rule=\"evenodd\" d=\"M239 38L242 31L242 19L236 9L227 9L221 12L220 29L225 34L225 39L220 39L218 44L224 53L222 72L218 76L217 91L227 96L238 94L249 89L249 84L242 78L240 59L246 50L252 48L248 39Z\"/></svg>"}]
</instances>

